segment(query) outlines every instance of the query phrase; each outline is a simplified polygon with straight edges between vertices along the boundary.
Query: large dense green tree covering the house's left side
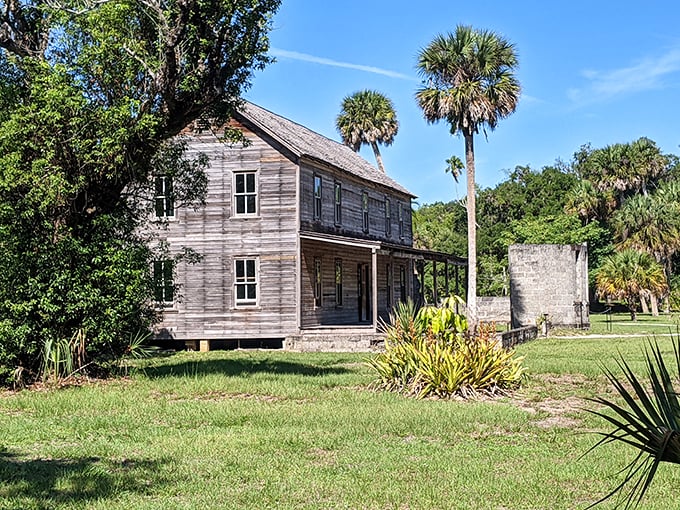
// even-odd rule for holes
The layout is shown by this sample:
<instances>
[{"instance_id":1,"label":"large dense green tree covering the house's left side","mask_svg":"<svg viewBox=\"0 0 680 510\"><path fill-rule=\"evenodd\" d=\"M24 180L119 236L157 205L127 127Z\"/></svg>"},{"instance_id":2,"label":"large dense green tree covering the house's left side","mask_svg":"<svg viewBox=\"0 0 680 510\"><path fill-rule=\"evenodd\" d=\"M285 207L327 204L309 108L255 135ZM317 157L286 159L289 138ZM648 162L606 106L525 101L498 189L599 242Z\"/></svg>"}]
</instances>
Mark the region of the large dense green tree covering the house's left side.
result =
<instances>
[{"instance_id":1,"label":"large dense green tree covering the house's left side","mask_svg":"<svg viewBox=\"0 0 680 510\"><path fill-rule=\"evenodd\" d=\"M154 176L200 205L205 160L173 137L228 116L278 5L0 1L1 380L48 340L108 355L154 320Z\"/></svg>"}]
</instances>

